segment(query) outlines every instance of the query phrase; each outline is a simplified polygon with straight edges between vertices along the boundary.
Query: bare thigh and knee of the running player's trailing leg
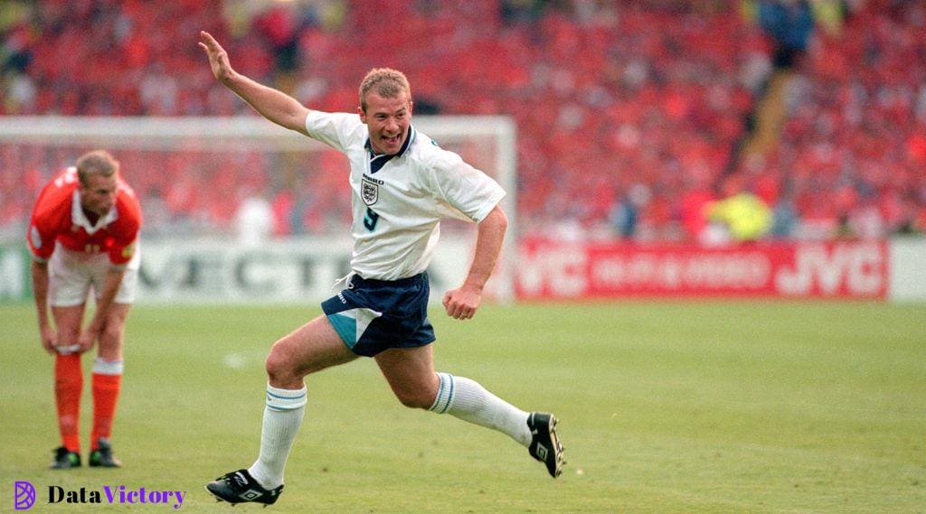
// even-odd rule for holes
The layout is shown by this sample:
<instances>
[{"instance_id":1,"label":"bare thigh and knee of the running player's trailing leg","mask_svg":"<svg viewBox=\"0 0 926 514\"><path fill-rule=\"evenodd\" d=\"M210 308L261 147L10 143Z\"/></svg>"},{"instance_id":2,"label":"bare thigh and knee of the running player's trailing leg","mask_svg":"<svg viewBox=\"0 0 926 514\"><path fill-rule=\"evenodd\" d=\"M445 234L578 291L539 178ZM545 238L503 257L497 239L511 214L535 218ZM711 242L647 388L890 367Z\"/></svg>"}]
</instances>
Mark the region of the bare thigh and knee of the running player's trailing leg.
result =
<instances>
[{"instance_id":1,"label":"bare thigh and knee of the running player's trailing leg","mask_svg":"<svg viewBox=\"0 0 926 514\"><path fill-rule=\"evenodd\" d=\"M421 409L431 406L439 385L432 345L387 349L373 359L402 403Z\"/></svg>"}]
</instances>

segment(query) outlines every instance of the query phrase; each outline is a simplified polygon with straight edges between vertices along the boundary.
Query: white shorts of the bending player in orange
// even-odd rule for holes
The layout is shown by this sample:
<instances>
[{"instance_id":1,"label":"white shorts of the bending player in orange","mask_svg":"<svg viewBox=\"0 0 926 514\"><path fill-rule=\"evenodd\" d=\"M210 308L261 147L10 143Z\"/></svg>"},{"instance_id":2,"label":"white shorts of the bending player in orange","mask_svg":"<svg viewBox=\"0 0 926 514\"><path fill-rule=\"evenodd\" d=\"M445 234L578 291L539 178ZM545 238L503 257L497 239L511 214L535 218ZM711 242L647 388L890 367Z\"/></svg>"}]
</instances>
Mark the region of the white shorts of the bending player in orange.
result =
<instances>
[{"instance_id":1,"label":"white shorts of the bending player in orange","mask_svg":"<svg viewBox=\"0 0 926 514\"><path fill-rule=\"evenodd\" d=\"M116 293L114 303L135 301L138 283L138 267L142 252L136 243L135 255L129 261L122 276L122 285ZM90 289L94 289L94 300L99 300L109 271L109 254L70 251L57 245L48 260L48 301L53 307L73 307L87 301Z\"/></svg>"}]
</instances>

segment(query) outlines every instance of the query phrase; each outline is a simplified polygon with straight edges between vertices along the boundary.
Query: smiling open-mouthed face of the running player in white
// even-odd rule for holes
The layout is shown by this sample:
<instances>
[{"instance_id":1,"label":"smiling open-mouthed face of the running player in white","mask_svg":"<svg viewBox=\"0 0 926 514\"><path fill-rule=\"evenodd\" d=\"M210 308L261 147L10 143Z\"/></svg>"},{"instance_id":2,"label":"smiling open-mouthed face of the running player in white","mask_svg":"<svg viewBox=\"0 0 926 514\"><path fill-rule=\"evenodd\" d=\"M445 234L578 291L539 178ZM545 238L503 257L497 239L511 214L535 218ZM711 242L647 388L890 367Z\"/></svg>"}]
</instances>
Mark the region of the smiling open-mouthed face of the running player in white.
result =
<instances>
[{"instance_id":1,"label":"smiling open-mouthed face of the running player in white","mask_svg":"<svg viewBox=\"0 0 926 514\"><path fill-rule=\"evenodd\" d=\"M369 129L369 144L374 153L393 154L402 149L411 126L411 100L405 92L385 98L370 91L366 97L366 112L360 107L360 120Z\"/></svg>"}]
</instances>

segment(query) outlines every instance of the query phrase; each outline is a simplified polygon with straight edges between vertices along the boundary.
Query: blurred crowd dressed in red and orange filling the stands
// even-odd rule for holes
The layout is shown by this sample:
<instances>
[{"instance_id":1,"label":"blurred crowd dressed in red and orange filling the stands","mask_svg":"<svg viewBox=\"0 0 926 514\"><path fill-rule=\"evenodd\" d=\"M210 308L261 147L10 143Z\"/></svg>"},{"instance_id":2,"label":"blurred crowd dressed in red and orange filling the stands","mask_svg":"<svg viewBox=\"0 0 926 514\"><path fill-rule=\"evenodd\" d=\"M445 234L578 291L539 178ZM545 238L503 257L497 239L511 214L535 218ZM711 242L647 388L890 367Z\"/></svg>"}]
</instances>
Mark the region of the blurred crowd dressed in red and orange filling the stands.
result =
<instances>
[{"instance_id":1,"label":"blurred crowd dressed in red and orange filling the stands","mask_svg":"<svg viewBox=\"0 0 926 514\"><path fill-rule=\"evenodd\" d=\"M407 73L416 114L512 116L521 235L926 230L923 2L7 0L0 10L4 115L256 116L213 80L196 46L206 30L239 71L319 110L353 111L366 71L389 66ZM756 149L776 73L788 79L770 107L782 122ZM299 184L267 159L117 157L152 230L232 229L236 213L257 212L253 197L276 234L341 222L325 219L333 195L319 186L345 185ZM0 146L0 226L28 219L56 171L43 160Z\"/></svg>"}]
</instances>

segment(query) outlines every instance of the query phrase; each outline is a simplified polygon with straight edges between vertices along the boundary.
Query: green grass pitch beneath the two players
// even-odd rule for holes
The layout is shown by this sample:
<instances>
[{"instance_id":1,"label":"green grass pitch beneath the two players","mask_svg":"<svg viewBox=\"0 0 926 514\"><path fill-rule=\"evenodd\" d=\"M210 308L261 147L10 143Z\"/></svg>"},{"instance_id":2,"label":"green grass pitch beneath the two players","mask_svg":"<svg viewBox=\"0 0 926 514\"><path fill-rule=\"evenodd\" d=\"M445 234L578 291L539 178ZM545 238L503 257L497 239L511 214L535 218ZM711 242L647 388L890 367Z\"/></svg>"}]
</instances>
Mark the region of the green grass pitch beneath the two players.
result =
<instances>
[{"instance_id":1,"label":"green grass pitch beneath the two players","mask_svg":"<svg viewBox=\"0 0 926 514\"><path fill-rule=\"evenodd\" d=\"M15 481L36 486L32 512L173 511L47 503L50 485L106 484L186 491L181 512L926 511L926 306L789 301L487 305L468 322L432 308L439 371L557 413L562 477L503 434L402 407L361 360L309 376L280 501L217 504L203 485L257 456L269 345L318 312L136 307L125 467L49 471L52 360L31 305L0 306L0 511ZM84 445L90 411L87 392Z\"/></svg>"}]
</instances>

